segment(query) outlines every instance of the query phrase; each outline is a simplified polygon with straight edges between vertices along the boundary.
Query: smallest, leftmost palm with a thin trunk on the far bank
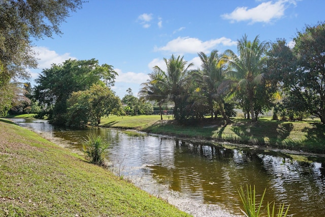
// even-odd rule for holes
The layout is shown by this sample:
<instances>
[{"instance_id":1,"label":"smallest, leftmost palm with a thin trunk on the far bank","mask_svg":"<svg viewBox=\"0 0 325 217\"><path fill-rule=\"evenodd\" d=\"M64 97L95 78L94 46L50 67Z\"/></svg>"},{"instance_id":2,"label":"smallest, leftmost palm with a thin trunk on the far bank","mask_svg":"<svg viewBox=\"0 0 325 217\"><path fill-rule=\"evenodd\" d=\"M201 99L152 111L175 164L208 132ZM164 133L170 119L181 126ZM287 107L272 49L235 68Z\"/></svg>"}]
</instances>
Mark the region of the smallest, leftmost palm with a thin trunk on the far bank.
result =
<instances>
[{"instance_id":1,"label":"smallest, leftmost palm with a thin trunk on the far bank","mask_svg":"<svg viewBox=\"0 0 325 217\"><path fill-rule=\"evenodd\" d=\"M163 91L162 87L159 86L158 81L163 79L163 74L154 71L148 75L149 79L147 79L147 82L141 84L138 96L142 100L156 101L159 105L160 119L162 120L163 113L161 112L161 105L166 102L167 94Z\"/></svg>"}]
</instances>

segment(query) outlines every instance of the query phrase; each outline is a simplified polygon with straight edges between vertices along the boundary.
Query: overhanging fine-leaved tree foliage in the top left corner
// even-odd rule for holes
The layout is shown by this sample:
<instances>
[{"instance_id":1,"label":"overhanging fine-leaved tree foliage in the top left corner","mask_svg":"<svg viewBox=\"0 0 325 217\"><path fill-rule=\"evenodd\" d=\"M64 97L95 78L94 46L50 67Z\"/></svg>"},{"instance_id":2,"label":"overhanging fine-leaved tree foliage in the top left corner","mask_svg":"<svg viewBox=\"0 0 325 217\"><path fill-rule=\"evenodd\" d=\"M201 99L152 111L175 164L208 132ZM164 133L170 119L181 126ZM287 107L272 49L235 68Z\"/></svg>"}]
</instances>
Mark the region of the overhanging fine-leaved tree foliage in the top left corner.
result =
<instances>
[{"instance_id":1,"label":"overhanging fine-leaved tree foliage in the top left corner","mask_svg":"<svg viewBox=\"0 0 325 217\"><path fill-rule=\"evenodd\" d=\"M48 1L0 1L0 88L1 108L6 99L13 96L10 80L28 79L27 68L36 68L37 59L32 49L31 38L52 37L61 34L59 25L70 11L81 8L81 0ZM6 90L6 91L4 91ZM4 113L4 111L0 111Z\"/></svg>"}]
</instances>

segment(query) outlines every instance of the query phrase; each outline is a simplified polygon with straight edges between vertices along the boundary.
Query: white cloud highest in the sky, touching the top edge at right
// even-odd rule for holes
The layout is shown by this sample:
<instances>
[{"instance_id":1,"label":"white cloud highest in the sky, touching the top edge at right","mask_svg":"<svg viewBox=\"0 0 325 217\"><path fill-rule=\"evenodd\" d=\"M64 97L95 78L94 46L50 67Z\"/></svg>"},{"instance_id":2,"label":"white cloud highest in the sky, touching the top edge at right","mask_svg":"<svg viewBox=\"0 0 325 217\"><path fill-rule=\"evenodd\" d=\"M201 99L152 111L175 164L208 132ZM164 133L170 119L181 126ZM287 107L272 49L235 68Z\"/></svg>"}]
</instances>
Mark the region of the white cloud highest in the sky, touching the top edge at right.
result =
<instances>
[{"instance_id":1,"label":"white cloud highest in the sky, touching the top edge at right","mask_svg":"<svg viewBox=\"0 0 325 217\"><path fill-rule=\"evenodd\" d=\"M249 21L250 24L255 22L270 23L275 19L280 19L284 16L284 11L288 5L296 5L294 0L279 0L273 3L272 1L264 2L255 8L248 9L247 7L238 7L230 14L222 14L223 19L231 20L231 22Z\"/></svg>"}]
</instances>

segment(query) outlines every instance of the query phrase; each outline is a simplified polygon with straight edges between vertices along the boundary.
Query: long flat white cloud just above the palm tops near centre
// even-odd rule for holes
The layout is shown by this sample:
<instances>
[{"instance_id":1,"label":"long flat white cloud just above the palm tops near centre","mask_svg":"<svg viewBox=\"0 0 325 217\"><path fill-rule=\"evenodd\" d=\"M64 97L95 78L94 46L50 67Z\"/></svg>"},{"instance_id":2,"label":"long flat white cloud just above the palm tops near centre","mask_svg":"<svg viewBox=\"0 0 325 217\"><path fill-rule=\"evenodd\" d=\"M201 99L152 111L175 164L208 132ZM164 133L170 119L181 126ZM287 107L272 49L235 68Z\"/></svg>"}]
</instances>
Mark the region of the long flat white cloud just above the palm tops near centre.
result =
<instances>
[{"instance_id":1,"label":"long flat white cloud just above the palm tops near centre","mask_svg":"<svg viewBox=\"0 0 325 217\"><path fill-rule=\"evenodd\" d=\"M167 43L163 47L155 47L155 51L169 51L171 53L197 53L209 52L210 49L215 48L217 45L234 46L237 42L231 39L222 37L219 39L212 39L210 41L201 41L197 38L178 37Z\"/></svg>"}]
</instances>

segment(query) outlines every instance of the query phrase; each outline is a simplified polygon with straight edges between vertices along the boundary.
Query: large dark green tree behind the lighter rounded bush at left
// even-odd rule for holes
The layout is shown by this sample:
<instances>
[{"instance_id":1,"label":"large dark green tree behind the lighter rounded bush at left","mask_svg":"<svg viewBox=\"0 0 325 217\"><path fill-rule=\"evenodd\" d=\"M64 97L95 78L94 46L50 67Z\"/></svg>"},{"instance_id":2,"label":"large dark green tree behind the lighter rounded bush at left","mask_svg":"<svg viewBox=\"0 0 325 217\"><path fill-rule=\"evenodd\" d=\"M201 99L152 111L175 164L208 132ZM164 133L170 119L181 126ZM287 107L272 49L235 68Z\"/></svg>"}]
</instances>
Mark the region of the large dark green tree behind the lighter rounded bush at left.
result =
<instances>
[{"instance_id":1,"label":"large dark green tree behind the lighter rounded bush at left","mask_svg":"<svg viewBox=\"0 0 325 217\"><path fill-rule=\"evenodd\" d=\"M63 64L53 64L50 69L43 70L36 79L35 98L46 109L50 120L63 125L64 113L67 112L67 100L79 90L89 89L92 84L103 83L102 70L98 60L66 60Z\"/></svg>"}]
</instances>

